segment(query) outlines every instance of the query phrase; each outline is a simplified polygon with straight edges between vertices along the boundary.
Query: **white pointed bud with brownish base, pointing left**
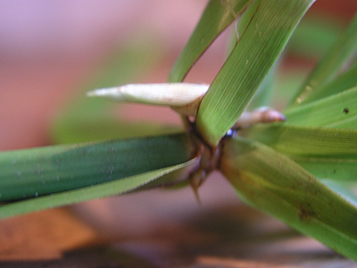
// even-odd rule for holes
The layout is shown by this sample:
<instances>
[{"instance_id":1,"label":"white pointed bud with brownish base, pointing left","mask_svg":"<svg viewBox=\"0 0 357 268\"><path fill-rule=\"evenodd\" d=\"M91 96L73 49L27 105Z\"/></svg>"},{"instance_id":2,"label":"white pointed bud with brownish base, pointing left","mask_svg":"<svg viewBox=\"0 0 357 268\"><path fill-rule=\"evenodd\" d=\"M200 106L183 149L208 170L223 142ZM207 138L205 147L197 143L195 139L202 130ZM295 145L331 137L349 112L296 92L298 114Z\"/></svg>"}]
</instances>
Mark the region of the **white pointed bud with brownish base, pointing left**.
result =
<instances>
[{"instance_id":1,"label":"white pointed bud with brownish base, pointing left","mask_svg":"<svg viewBox=\"0 0 357 268\"><path fill-rule=\"evenodd\" d=\"M189 83L128 84L95 89L87 96L103 96L126 103L165 105L179 113L195 116L208 88L208 85Z\"/></svg>"}]
</instances>

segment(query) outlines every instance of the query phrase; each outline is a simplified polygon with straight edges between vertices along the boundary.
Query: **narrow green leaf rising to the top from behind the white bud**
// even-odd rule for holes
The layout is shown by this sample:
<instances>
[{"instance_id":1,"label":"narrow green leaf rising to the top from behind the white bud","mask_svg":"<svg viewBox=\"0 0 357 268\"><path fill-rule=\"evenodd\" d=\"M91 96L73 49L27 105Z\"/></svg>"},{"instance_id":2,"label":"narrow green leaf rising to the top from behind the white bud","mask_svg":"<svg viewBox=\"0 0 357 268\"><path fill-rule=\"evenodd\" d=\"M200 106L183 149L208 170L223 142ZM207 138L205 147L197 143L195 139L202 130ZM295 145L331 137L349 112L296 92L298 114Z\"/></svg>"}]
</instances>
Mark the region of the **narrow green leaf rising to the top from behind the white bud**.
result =
<instances>
[{"instance_id":1,"label":"narrow green leaf rising to the top from behind the white bud","mask_svg":"<svg viewBox=\"0 0 357 268\"><path fill-rule=\"evenodd\" d=\"M227 26L243 13L253 0L211 0L207 4L203 15L189 38L187 45L179 54L179 58L172 67L169 75L170 82L184 80L187 72L197 59L210 46L215 38Z\"/></svg>"}]
</instances>

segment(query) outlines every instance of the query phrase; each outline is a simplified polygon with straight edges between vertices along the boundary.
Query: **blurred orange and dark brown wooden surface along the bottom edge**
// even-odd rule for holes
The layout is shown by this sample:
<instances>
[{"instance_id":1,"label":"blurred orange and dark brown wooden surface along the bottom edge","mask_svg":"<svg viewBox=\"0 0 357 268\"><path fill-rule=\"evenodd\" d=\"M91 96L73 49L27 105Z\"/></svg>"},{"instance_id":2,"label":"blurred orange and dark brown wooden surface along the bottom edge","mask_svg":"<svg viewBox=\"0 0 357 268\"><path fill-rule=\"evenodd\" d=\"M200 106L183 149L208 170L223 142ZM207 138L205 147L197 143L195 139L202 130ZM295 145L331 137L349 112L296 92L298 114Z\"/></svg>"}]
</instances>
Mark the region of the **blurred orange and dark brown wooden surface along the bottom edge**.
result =
<instances>
[{"instance_id":1,"label":"blurred orange and dark brown wooden surface along the bottom edge","mask_svg":"<svg viewBox=\"0 0 357 268\"><path fill-rule=\"evenodd\" d=\"M64 209L0 222L0 267L357 267L237 202L142 237L100 236Z\"/></svg>"}]
</instances>

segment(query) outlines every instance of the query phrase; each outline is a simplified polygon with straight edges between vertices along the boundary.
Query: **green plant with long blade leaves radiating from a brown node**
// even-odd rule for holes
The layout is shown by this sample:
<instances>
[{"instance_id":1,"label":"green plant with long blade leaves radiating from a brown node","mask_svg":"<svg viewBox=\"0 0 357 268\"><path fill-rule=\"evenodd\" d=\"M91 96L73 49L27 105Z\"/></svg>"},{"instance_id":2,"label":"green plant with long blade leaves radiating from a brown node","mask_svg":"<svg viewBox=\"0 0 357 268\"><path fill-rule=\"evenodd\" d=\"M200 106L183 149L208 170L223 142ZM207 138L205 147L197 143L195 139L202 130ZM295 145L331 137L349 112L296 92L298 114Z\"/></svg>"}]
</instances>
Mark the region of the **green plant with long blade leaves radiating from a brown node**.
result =
<instances>
[{"instance_id":1,"label":"green plant with long blade leaves radiating from a brown node","mask_svg":"<svg viewBox=\"0 0 357 268\"><path fill-rule=\"evenodd\" d=\"M195 119L182 116L186 130L166 134L169 130L155 127L153 132L162 135L2 153L0 200L9 203L0 207L0 217L187 180L197 188L206 173L218 169L245 202L357 260L355 197L341 183L353 183L357 173L356 65L345 68L357 48L357 18L293 93L283 111L285 122L271 122L274 117L230 130L247 107L269 105L270 80L278 69L272 67L313 2L210 1L169 81L184 80L239 16L240 38L200 100ZM106 83L112 84L117 71L111 66ZM103 121L110 116L105 105L90 99L71 113L82 115L80 121ZM66 120L73 124L76 118ZM124 125L105 122L118 133ZM130 128L138 126L125 124Z\"/></svg>"}]
</instances>

